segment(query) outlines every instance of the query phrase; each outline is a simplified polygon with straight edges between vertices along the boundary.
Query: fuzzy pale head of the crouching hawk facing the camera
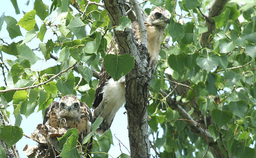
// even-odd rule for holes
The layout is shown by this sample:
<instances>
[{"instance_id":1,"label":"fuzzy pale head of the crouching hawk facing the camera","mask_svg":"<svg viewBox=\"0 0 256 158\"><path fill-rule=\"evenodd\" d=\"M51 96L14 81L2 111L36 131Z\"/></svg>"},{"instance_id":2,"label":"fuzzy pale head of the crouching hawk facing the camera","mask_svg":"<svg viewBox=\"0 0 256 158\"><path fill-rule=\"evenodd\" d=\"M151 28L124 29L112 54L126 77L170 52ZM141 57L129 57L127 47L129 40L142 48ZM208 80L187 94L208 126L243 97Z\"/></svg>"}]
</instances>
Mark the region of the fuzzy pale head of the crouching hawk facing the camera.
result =
<instances>
[{"instance_id":1,"label":"fuzzy pale head of the crouching hawk facing the camera","mask_svg":"<svg viewBox=\"0 0 256 158\"><path fill-rule=\"evenodd\" d=\"M79 116L80 101L74 95L67 95L60 99L60 119Z\"/></svg>"}]
</instances>

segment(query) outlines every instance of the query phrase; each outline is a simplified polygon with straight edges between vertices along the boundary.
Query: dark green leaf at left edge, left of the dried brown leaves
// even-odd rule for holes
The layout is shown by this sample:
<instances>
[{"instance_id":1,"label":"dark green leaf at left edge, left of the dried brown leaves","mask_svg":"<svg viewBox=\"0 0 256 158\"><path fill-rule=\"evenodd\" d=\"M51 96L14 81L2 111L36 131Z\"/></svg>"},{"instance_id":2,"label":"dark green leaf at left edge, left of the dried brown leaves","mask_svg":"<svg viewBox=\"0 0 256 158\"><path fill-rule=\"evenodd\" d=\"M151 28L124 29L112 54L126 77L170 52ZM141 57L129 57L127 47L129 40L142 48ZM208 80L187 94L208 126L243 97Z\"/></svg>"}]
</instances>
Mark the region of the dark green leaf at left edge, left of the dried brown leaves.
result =
<instances>
[{"instance_id":1,"label":"dark green leaf at left edge, left of the dried brown leaves","mask_svg":"<svg viewBox=\"0 0 256 158\"><path fill-rule=\"evenodd\" d=\"M0 137L7 144L8 148L12 147L23 136L23 131L19 126L0 126ZM4 131L4 133L2 133Z\"/></svg>"}]
</instances>

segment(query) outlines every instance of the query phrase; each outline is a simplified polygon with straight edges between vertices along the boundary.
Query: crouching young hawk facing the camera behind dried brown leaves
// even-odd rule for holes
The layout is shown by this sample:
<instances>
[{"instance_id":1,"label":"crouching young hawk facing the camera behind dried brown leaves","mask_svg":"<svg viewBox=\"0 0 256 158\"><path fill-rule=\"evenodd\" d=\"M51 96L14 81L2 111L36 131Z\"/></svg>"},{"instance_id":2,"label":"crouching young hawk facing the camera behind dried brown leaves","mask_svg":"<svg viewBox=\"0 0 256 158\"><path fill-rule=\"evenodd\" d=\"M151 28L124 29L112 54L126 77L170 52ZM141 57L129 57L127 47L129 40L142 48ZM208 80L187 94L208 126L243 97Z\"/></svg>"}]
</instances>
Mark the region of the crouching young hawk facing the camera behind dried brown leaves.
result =
<instances>
[{"instance_id":1,"label":"crouching young hawk facing the camera behind dried brown leaves","mask_svg":"<svg viewBox=\"0 0 256 158\"><path fill-rule=\"evenodd\" d=\"M59 103L52 102L47 107L44 114L43 124L57 128L58 121L61 123L65 122L68 129L78 129L78 142L81 145L84 137L92 131L92 112L84 102L80 102L74 95L63 96ZM83 146L86 148L87 144L83 144ZM85 151L85 148L83 148L83 152ZM92 138L88 144L87 150L90 150L91 148Z\"/></svg>"}]
</instances>

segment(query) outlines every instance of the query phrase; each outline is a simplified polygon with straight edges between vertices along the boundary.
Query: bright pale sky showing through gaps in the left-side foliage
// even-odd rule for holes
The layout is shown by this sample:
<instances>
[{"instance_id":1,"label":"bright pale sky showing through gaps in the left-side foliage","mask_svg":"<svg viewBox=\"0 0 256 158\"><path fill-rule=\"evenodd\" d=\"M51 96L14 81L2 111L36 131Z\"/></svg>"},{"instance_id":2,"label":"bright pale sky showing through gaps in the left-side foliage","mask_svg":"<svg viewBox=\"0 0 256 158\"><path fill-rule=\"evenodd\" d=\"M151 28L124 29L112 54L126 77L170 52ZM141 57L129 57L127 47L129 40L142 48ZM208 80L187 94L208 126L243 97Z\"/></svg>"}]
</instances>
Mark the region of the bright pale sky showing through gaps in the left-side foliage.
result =
<instances>
[{"instance_id":1,"label":"bright pale sky showing through gaps in the left-side foliage","mask_svg":"<svg viewBox=\"0 0 256 158\"><path fill-rule=\"evenodd\" d=\"M33 3L34 1L30 0L30 3L28 4L28 6L26 6L25 3L27 3L27 0L18 0L18 6L20 8L20 12L21 14L16 15L15 14L15 10L12 6L12 3L10 0L6 0L4 2L4 5L0 5L0 15L3 14L5 16L11 16L13 18L15 18L17 21L19 21L20 18L23 17L22 11L24 12L29 12L33 9ZM43 2L47 5L50 5L51 3L49 3L49 0L43 0ZM54 15L54 14L53 14ZM36 16L36 19L40 19L38 16ZM42 21L41 20L36 20L37 25L40 27L42 25ZM22 27L20 27L20 31L23 35L16 37L14 39L10 39L9 34L6 30L6 23L4 22L2 29L0 31L0 38L4 39L5 42L8 42L9 44L11 44L12 42L18 42L22 39L25 38L26 36L26 30L23 29ZM44 43L47 42L48 39L52 38L52 33L51 32L46 32L45 37L44 37ZM56 37L55 37L56 38ZM54 39L55 40L55 39ZM41 41L37 38L33 39L32 41L26 43L26 45L33 49L33 48L37 48L38 47L38 43L41 43ZM10 59L10 60L15 60L17 59L16 57L13 57L11 55L5 54L3 53L3 59ZM41 52L38 51L34 51L34 53L41 59L44 59L44 56L42 55ZM54 66L56 64L56 61L53 59L50 59L48 61L44 61L44 60L39 60L37 61L33 66L31 66L31 68L37 69L37 70L44 70L46 68L49 68L51 66ZM0 87L1 86L5 86L4 85L4 79L3 76L0 75ZM58 101L57 99L55 99L54 101ZM43 123L43 116L42 116L42 112L38 111L36 112L38 109L38 107L36 107L35 112L32 113L31 115L28 116L28 118L26 118L24 115L22 115L22 122L20 127L23 130L23 133L26 133L27 135L30 135L31 133L34 132L34 130L36 129L36 126L40 123ZM7 108L8 111L10 111L11 115L10 115L10 120L12 125L14 125L15 123L15 118L14 115L12 115L13 113L13 107L9 106ZM120 147L119 147L119 142L118 140L115 138L115 136L124 144L125 147L128 148L128 150L130 150L130 146L129 146L129 139L128 139L128 130L127 130L127 115L124 115L125 108L122 107L119 109L119 111L116 113L116 116L113 120L113 123L110 127L110 130L112 132L113 135L113 143L114 145L111 145L111 148L109 150L109 154L116 158L117 156L119 156L121 154L120 151ZM115 134L115 136L114 136ZM36 142L33 140L30 140L26 137L22 137L17 143L16 143L16 147L19 151L20 157L21 158L26 158L27 156L23 153L23 148L25 147L25 145L36 145ZM127 151L127 149L123 147L121 145L121 150L123 153L125 154L129 154L129 152ZM110 157L110 156L109 156Z\"/></svg>"}]
</instances>

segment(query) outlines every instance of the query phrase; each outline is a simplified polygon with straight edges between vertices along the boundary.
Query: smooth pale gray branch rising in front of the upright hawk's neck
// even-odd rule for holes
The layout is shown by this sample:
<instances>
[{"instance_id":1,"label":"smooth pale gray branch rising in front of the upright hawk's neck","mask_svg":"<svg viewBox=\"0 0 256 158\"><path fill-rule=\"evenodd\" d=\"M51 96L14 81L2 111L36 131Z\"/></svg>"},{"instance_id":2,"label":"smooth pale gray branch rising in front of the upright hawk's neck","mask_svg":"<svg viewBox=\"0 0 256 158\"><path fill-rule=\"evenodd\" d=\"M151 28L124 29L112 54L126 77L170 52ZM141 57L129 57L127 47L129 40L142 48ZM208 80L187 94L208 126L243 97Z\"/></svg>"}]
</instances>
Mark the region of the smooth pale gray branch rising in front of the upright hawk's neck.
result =
<instances>
[{"instance_id":1,"label":"smooth pale gray branch rising in front of the upright hawk's neck","mask_svg":"<svg viewBox=\"0 0 256 158\"><path fill-rule=\"evenodd\" d=\"M145 28L145 24L141 15L140 6L137 0L130 0L130 2L132 3L132 6L134 8L136 19L140 28L141 43L148 47L147 30Z\"/></svg>"}]
</instances>

